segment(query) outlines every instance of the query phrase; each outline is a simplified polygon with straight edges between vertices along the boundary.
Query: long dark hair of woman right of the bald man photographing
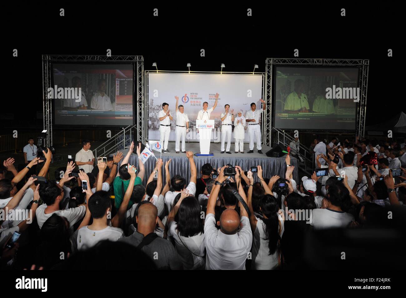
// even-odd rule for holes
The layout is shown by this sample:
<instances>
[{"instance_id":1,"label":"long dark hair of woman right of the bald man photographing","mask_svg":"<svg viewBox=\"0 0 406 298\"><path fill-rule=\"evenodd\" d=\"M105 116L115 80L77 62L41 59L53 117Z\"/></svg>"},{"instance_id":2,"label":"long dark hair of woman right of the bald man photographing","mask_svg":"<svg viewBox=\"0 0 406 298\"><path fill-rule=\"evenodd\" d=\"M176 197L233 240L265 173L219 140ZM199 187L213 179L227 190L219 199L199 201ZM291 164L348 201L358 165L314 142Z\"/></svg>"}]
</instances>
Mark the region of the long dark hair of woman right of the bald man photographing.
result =
<instances>
[{"instance_id":1,"label":"long dark hair of woman right of the bald man photographing","mask_svg":"<svg viewBox=\"0 0 406 298\"><path fill-rule=\"evenodd\" d=\"M263 218L263 230L265 232L264 240L268 240L269 255L276 251L279 240L279 205L273 195L264 195L259 201L262 213L267 217Z\"/></svg>"}]
</instances>

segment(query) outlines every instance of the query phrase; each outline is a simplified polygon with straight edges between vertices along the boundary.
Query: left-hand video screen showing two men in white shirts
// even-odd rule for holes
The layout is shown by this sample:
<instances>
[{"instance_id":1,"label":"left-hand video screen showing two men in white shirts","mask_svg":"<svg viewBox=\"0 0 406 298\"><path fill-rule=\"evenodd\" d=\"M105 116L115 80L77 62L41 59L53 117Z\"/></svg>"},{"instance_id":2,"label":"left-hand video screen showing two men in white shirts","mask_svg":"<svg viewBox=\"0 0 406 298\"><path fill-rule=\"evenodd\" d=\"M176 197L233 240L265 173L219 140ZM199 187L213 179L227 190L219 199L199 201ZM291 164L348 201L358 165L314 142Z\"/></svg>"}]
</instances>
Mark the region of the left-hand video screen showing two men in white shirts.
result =
<instances>
[{"instance_id":1,"label":"left-hand video screen showing two men in white shirts","mask_svg":"<svg viewBox=\"0 0 406 298\"><path fill-rule=\"evenodd\" d=\"M55 124L132 125L131 64L53 64Z\"/></svg>"}]
</instances>

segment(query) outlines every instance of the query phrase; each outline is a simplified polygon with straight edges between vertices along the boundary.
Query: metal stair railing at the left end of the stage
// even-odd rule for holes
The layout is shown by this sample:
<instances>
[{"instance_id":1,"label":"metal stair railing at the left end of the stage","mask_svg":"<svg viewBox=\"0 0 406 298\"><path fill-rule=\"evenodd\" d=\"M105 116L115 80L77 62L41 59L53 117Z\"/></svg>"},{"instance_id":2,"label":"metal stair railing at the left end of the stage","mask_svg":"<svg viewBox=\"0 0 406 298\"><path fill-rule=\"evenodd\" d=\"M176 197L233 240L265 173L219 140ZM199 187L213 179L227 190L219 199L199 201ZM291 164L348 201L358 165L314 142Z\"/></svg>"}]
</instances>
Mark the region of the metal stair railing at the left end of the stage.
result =
<instances>
[{"instance_id":1,"label":"metal stair railing at the left end of the stage","mask_svg":"<svg viewBox=\"0 0 406 298\"><path fill-rule=\"evenodd\" d=\"M110 154L130 147L131 141L134 141L132 139L132 132L134 128L136 128L136 125L127 126L125 129L119 131L99 147L94 149L93 155L95 158L97 159L97 157L100 156L108 157Z\"/></svg>"}]
</instances>

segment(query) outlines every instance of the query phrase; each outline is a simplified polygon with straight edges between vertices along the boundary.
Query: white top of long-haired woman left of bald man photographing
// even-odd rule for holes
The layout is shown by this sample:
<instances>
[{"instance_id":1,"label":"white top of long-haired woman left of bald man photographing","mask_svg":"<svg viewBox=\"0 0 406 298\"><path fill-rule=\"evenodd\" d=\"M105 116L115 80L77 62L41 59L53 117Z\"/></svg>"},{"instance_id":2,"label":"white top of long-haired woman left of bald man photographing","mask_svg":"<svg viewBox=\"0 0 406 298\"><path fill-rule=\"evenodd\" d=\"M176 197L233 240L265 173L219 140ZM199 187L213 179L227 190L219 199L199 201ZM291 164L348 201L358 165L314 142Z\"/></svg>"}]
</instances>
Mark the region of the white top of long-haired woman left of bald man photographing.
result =
<instances>
[{"instance_id":1,"label":"white top of long-haired woman left of bald man photographing","mask_svg":"<svg viewBox=\"0 0 406 298\"><path fill-rule=\"evenodd\" d=\"M199 269L205 265L205 242L203 233L192 237L181 236L180 233L177 233L177 223L171 221L168 226L168 236L172 236L173 240L175 240L176 251L179 254L179 258L185 270Z\"/></svg>"}]
</instances>

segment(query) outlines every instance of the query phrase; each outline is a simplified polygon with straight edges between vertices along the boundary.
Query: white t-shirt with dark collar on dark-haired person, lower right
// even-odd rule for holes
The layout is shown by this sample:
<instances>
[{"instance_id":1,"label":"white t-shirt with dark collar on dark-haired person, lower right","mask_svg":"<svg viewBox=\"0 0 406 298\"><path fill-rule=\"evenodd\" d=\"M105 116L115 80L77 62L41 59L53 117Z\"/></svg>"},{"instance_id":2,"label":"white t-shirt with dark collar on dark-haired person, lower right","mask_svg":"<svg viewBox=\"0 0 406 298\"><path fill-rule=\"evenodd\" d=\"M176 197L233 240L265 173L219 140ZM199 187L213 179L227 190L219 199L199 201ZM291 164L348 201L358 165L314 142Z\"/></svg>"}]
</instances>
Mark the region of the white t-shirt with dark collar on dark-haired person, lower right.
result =
<instances>
[{"instance_id":1,"label":"white t-shirt with dark collar on dark-haired person, lower right","mask_svg":"<svg viewBox=\"0 0 406 298\"><path fill-rule=\"evenodd\" d=\"M310 224L315 229L330 229L335 227L347 227L354 217L344 211L331 209L313 209L310 213Z\"/></svg>"}]
</instances>

